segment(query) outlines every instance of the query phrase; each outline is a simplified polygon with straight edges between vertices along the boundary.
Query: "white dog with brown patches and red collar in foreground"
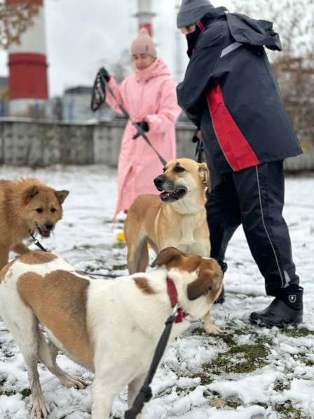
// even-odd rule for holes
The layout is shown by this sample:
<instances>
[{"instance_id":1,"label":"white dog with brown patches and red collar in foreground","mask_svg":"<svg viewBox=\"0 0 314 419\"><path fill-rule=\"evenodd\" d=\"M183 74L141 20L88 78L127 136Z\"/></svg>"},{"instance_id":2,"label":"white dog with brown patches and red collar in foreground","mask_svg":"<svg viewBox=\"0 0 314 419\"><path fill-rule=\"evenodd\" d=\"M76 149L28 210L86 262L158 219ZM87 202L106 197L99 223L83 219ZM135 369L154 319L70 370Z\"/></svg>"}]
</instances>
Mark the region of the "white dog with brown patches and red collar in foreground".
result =
<instances>
[{"instance_id":1,"label":"white dog with brown patches and red collar in foreground","mask_svg":"<svg viewBox=\"0 0 314 419\"><path fill-rule=\"evenodd\" d=\"M102 281L76 272L52 253L35 251L1 270L0 316L27 364L36 419L50 411L39 383L39 360L67 387L84 383L57 366L58 349L95 371L92 418L109 419L113 398L123 387L128 385L132 406L144 383L173 310L167 281L175 284L188 319L203 317L221 291L222 272L213 259L165 248L153 263L162 268ZM173 325L170 342L189 327L188 319Z\"/></svg>"}]
</instances>

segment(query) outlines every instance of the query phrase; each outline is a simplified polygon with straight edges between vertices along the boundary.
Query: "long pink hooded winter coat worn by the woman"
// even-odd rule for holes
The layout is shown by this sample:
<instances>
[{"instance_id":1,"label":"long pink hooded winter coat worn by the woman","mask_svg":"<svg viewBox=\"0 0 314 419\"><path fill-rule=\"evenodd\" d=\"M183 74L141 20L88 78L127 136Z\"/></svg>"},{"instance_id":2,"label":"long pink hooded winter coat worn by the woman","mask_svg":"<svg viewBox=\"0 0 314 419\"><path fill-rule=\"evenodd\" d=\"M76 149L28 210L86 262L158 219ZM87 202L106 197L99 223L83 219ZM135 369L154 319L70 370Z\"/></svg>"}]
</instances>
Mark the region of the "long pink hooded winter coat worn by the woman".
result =
<instances>
[{"instance_id":1,"label":"long pink hooded winter coat worn by the woman","mask_svg":"<svg viewBox=\"0 0 314 419\"><path fill-rule=\"evenodd\" d=\"M177 105L175 81L165 63L157 59L148 68L136 70L120 86L111 77L109 86L132 121L146 121L149 125L146 135L161 156L166 161L175 159L175 122L181 109ZM107 102L114 111L121 113L109 91ZM118 201L114 219L120 211L128 210L139 194L158 193L153 178L161 174L163 166L144 138L132 139L136 132L128 121L118 161Z\"/></svg>"}]
</instances>

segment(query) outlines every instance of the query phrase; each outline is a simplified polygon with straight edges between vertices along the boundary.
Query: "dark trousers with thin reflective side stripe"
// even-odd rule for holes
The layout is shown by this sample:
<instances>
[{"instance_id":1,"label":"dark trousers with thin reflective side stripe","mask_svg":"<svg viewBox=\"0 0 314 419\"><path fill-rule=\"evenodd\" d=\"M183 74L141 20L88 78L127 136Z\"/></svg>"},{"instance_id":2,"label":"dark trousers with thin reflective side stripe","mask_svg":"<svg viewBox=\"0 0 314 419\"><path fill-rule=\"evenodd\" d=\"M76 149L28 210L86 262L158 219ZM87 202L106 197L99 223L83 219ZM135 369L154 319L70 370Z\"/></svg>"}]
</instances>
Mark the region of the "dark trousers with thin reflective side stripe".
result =
<instances>
[{"instance_id":1,"label":"dark trousers with thin reflective side stripe","mask_svg":"<svg viewBox=\"0 0 314 419\"><path fill-rule=\"evenodd\" d=\"M266 293L299 285L287 224L282 217L285 180L283 161L214 175L207 195L211 256L220 263L228 241L243 225L252 256L265 279Z\"/></svg>"}]
</instances>

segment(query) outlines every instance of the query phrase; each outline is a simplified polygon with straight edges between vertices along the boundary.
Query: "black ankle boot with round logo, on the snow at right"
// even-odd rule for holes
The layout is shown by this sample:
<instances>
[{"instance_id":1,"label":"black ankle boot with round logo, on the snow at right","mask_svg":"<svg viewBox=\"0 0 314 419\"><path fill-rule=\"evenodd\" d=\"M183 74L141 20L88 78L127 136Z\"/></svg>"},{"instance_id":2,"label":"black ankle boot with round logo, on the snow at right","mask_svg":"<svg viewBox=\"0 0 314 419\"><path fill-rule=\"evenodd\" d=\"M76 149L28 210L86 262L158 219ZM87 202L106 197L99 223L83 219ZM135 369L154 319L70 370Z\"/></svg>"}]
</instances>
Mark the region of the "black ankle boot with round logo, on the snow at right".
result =
<instances>
[{"instance_id":1,"label":"black ankle boot with round logo, on the snow at right","mask_svg":"<svg viewBox=\"0 0 314 419\"><path fill-rule=\"evenodd\" d=\"M250 323L261 327L283 327L287 324L299 324L303 316L303 288L292 286L281 288L275 300L265 310L252 312Z\"/></svg>"}]
</instances>

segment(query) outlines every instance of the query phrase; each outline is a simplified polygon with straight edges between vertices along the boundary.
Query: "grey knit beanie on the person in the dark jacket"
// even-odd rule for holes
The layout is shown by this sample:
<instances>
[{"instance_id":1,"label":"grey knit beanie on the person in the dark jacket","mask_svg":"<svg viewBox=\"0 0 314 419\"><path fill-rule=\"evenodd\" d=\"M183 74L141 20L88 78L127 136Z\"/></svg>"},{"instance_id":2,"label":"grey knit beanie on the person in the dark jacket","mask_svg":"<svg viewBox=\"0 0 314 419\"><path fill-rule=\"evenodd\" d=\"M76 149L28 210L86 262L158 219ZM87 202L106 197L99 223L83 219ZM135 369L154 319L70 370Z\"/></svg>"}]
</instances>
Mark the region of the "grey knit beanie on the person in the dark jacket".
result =
<instances>
[{"instance_id":1,"label":"grey knit beanie on the person in the dark jacket","mask_svg":"<svg viewBox=\"0 0 314 419\"><path fill-rule=\"evenodd\" d=\"M177 27L193 25L214 6L208 0L182 0L177 14Z\"/></svg>"}]
</instances>

